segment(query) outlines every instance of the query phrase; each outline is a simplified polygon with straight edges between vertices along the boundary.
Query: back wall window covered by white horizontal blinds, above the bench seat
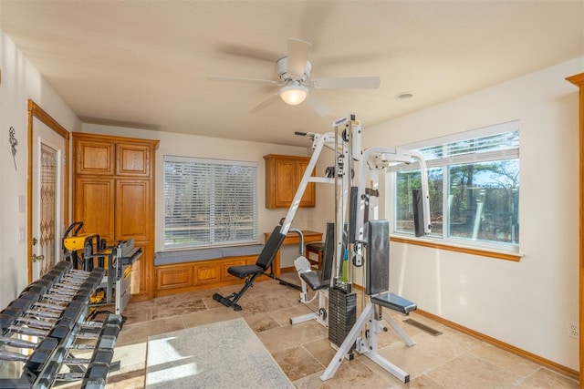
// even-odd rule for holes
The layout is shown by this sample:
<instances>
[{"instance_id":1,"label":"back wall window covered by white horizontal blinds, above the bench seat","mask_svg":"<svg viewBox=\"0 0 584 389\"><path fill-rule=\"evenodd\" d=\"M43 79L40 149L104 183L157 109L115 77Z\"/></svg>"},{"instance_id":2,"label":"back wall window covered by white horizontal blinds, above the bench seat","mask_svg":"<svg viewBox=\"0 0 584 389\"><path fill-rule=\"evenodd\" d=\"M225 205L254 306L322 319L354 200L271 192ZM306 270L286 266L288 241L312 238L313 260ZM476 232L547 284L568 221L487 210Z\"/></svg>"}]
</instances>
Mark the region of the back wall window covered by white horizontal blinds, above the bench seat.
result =
<instances>
[{"instance_id":1,"label":"back wall window covered by white horizontal blinds, above the bench seat","mask_svg":"<svg viewBox=\"0 0 584 389\"><path fill-rule=\"evenodd\" d=\"M257 241L257 163L164 156L164 248Z\"/></svg>"}]
</instances>

